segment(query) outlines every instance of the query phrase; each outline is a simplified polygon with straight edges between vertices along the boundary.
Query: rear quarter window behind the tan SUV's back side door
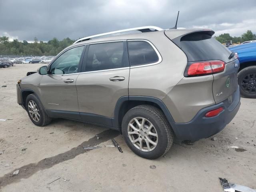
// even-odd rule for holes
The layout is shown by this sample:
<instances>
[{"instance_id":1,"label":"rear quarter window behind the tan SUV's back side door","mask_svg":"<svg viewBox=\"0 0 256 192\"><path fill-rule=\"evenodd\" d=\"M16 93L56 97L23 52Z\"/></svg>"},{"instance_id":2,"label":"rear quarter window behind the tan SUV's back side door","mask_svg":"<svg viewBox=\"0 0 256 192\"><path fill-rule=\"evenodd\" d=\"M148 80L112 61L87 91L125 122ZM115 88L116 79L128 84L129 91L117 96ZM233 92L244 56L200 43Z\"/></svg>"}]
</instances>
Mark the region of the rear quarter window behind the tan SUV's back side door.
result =
<instances>
[{"instance_id":1,"label":"rear quarter window behind the tan SUV's back side door","mask_svg":"<svg viewBox=\"0 0 256 192\"><path fill-rule=\"evenodd\" d=\"M150 64L158 61L155 50L148 42L130 41L128 42L128 50L131 66Z\"/></svg>"}]
</instances>

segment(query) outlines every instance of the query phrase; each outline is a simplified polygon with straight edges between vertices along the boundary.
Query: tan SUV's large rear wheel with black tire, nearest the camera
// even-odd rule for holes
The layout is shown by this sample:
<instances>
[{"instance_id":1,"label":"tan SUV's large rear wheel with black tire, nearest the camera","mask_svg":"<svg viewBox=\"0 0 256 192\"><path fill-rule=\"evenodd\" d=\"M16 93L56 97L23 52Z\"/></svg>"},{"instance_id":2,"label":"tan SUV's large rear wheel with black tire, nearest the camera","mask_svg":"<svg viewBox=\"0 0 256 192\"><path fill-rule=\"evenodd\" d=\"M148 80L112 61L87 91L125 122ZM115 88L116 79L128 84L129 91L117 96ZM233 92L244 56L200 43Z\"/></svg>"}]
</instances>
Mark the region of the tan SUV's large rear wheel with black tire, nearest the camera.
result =
<instances>
[{"instance_id":1,"label":"tan SUV's large rear wheel with black tire, nearest the camera","mask_svg":"<svg viewBox=\"0 0 256 192\"><path fill-rule=\"evenodd\" d=\"M144 119L143 131L139 129L135 119L142 124ZM130 124L133 125L133 129ZM150 125L153 125L149 132ZM128 134L136 132L135 134ZM150 133L150 134L148 134ZM138 156L146 159L156 159L168 152L173 142L173 132L164 113L158 108L150 105L139 105L130 109L122 120L122 134L128 147ZM152 134L157 135L152 136ZM150 139L149 139L150 138ZM132 144L131 140L138 140ZM153 145L151 142L153 141ZM142 142L142 148L140 143ZM149 144L149 147L148 147ZM148 150L150 148L150 150Z\"/></svg>"}]
</instances>

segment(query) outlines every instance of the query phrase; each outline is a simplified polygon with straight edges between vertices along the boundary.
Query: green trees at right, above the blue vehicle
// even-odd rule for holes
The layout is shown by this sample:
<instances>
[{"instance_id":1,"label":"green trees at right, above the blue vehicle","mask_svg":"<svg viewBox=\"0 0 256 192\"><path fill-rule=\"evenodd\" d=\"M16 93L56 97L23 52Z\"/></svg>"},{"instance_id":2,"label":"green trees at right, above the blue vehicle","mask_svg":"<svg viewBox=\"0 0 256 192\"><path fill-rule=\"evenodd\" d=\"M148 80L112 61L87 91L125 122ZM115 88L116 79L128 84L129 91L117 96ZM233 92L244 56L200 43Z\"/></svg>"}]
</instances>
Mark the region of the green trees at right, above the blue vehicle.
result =
<instances>
[{"instance_id":1,"label":"green trees at right, above the blue vehicle","mask_svg":"<svg viewBox=\"0 0 256 192\"><path fill-rule=\"evenodd\" d=\"M251 30L248 30L247 32L238 37L232 37L229 33L224 33L220 34L219 36L214 36L214 38L221 43L226 43L226 40L232 40L232 43L239 44L245 41L256 40L256 34L253 34Z\"/></svg>"}]
</instances>

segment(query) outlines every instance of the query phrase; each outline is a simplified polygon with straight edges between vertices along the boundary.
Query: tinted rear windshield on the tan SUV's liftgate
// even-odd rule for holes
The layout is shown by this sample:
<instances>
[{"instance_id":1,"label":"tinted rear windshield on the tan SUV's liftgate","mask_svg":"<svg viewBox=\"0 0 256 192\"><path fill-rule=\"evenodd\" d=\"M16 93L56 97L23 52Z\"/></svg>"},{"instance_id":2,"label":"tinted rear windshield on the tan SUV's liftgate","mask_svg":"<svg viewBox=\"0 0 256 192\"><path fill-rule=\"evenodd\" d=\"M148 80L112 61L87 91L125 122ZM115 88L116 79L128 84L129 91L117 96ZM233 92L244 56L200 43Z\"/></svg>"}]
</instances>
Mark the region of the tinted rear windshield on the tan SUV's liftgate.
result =
<instances>
[{"instance_id":1,"label":"tinted rear windshield on the tan SUV's liftgate","mask_svg":"<svg viewBox=\"0 0 256 192\"><path fill-rule=\"evenodd\" d=\"M177 40L180 40L180 42L177 42ZM191 33L182 38L174 39L174 42L185 52L189 62L203 60L231 61L228 59L231 54L230 50L205 32Z\"/></svg>"}]
</instances>

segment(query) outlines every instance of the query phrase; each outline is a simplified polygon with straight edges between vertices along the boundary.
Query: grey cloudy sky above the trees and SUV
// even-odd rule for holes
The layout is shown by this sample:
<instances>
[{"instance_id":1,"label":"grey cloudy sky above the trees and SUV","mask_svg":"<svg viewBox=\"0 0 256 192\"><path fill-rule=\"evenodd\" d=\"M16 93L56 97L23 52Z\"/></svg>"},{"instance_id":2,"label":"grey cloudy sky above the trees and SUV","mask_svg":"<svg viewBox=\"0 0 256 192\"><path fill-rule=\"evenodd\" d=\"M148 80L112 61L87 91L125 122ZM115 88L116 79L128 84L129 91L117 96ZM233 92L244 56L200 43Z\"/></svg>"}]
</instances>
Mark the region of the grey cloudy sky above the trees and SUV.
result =
<instances>
[{"instance_id":1,"label":"grey cloudy sky above the trees and SUV","mask_svg":"<svg viewBox=\"0 0 256 192\"><path fill-rule=\"evenodd\" d=\"M48 41L78 39L154 25L256 33L256 0L0 0L0 36Z\"/></svg>"}]
</instances>

